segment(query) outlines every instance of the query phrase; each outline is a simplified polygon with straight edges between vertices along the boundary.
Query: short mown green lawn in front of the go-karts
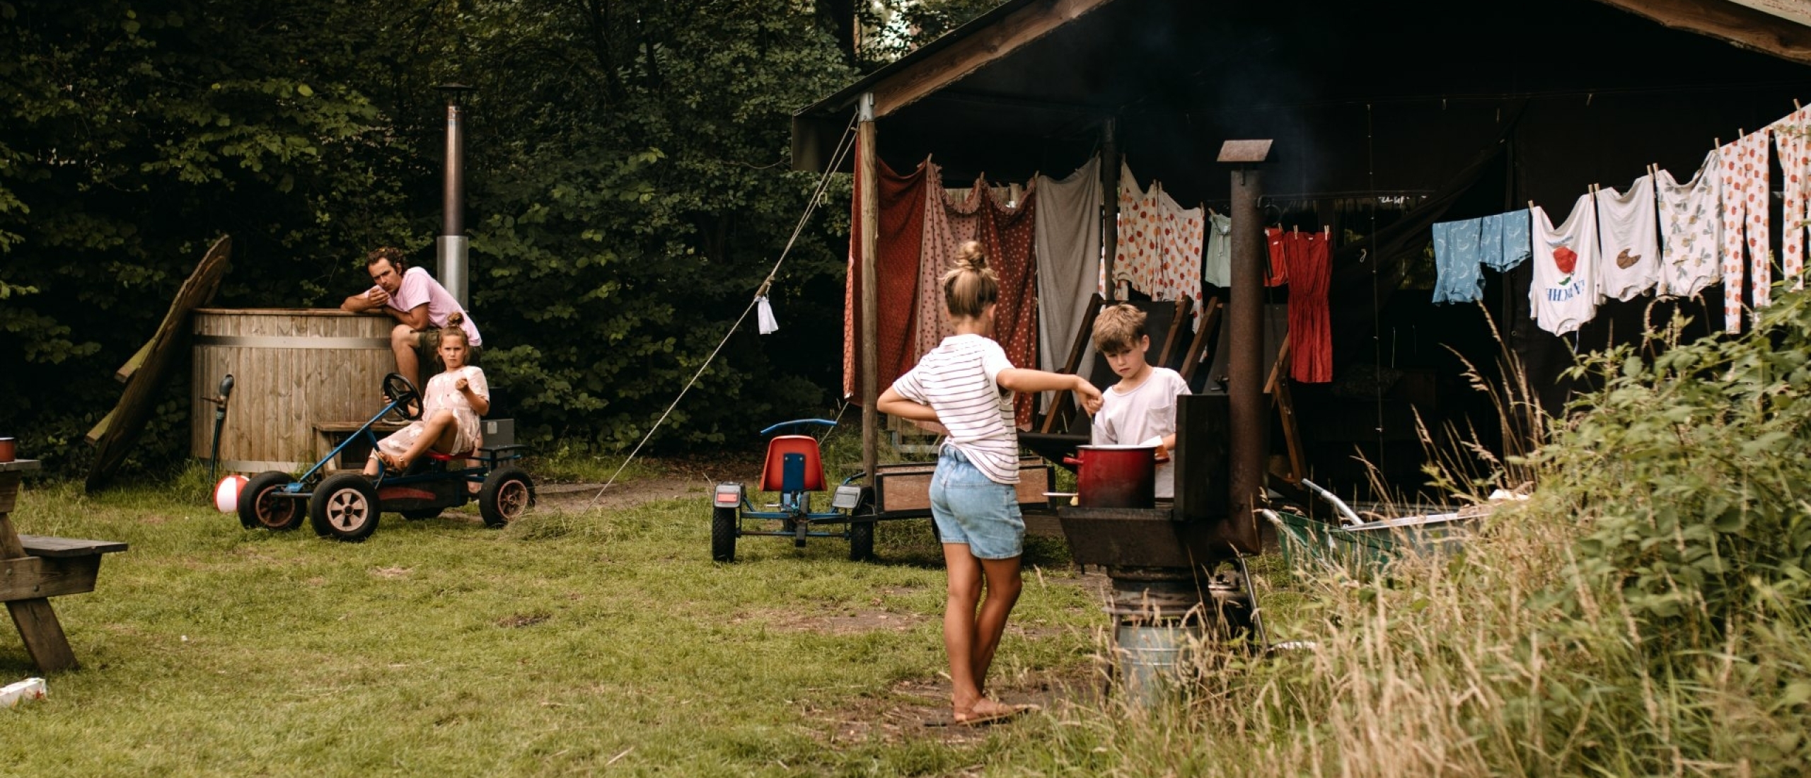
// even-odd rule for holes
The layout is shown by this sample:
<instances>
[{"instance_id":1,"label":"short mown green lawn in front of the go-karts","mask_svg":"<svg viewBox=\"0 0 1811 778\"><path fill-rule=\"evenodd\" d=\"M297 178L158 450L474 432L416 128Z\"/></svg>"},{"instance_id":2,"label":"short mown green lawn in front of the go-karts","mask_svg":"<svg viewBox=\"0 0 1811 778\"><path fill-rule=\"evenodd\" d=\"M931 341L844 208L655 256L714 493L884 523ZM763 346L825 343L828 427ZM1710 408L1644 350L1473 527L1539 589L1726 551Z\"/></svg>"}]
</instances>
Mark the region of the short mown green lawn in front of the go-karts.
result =
<instances>
[{"instance_id":1,"label":"short mown green lawn in front of the go-karts","mask_svg":"<svg viewBox=\"0 0 1811 778\"><path fill-rule=\"evenodd\" d=\"M842 541L779 537L714 565L703 494L502 532L474 512L386 516L342 545L243 530L203 505L205 479L27 485L22 532L132 548L96 592L53 601L83 666L0 711L0 773L947 774L1054 726L875 726L942 706L900 691L944 669L924 521L884 523L882 561L862 565ZM1007 695L1088 682L1105 617L1063 554L1027 555ZM869 628L880 615L904 630ZM27 675L4 631L0 680Z\"/></svg>"}]
</instances>

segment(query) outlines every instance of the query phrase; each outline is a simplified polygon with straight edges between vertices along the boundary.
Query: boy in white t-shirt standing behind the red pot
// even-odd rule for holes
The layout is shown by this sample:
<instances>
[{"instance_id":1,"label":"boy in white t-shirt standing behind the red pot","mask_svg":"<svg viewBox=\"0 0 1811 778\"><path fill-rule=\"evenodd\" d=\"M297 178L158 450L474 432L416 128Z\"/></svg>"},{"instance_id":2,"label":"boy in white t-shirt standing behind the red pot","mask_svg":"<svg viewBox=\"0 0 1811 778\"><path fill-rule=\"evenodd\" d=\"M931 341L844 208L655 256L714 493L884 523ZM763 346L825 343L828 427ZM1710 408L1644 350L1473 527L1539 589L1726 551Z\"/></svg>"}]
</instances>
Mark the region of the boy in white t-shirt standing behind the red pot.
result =
<instances>
[{"instance_id":1,"label":"boy in white t-shirt standing behind the red pot","mask_svg":"<svg viewBox=\"0 0 1811 778\"><path fill-rule=\"evenodd\" d=\"M1094 349L1107 358L1119 384L1103 394L1094 414L1094 445L1155 445L1159 456L1175 449L1175 398L1190 394L1188 382L1168 367L1145 362L1150 335L1145 311L1130 304L1110 306L1094 318ZM1157 498L1175 498L1175 465L1157 465Z\"/></svg>"}]
</instances>

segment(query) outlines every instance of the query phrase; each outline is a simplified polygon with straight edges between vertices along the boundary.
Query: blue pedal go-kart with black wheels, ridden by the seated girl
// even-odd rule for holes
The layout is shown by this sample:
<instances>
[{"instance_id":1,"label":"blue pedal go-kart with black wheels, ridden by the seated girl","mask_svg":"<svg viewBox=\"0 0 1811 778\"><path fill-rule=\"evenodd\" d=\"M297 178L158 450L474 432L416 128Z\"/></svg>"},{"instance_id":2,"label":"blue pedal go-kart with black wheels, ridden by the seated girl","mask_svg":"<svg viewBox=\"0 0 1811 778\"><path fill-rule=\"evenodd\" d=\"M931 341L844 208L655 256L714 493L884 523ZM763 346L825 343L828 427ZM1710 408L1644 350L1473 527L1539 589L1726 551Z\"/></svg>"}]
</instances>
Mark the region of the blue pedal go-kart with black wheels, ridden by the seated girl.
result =
<instances>
[{"instance_id":1,"label":"blue pedal go-kart with black wheels, ridden by the seated girl","mask_svg":"<svg viewBox=\"0 0 1811 778\"><path fill-rule=\"evenodd\" d=\"M357 470L330 474L328 463L353 441L377 449L377 432L371 425L420 418L420 393L397 373L384 376L384 400L386 405L377 416L301 478L270 470L246 481L239 492L239 523L246 528L293 530L306 512L315 534L362 541L377 532L377 517L382 512L397 512L406 519L431 519L446 508L465 505L471 501L467 483L482 483L478 516L491 527L516 521L534 505L534 481L513 465L523 456L525 445L480 447L458 454L429 452L400 476L384 469L375 483ZM465 461L478 465L465 467Z\"/></svg>"}]
</instances>

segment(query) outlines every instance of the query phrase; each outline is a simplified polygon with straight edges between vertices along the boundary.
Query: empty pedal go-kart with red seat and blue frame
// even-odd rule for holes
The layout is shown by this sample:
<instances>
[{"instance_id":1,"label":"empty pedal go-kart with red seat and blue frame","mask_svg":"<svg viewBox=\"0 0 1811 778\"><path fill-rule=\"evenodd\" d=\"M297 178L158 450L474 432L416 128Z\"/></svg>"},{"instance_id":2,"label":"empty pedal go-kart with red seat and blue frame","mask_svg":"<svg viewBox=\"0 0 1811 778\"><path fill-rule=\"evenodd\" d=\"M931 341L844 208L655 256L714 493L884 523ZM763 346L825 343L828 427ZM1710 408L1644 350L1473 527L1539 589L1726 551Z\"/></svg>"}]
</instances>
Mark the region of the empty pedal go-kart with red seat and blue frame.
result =
<instances>
[{"instance_id":1,"label":"empty pedal go-kart with red seat and blue frame","mask_svg":"<svg viewBox=\"0 0 1811 778\"><path fill-rule=\"evenodd\" d=\"M786 427L835 427L837 422L822 418L802 418L781 422L762 429L761 434ZM746 490L737 481L717 485L710 510L710 557L719 563L735 561L735 539L743 536L791 537L793 545L804 548L806 537L848 537L849 559L862 561L875 555L875 498L867 487L853 481L864 474L857 472L837 487L829 499L829 510L811 512L811 492L824 490L824 461L819 454L817 438L810 434L779 434L768 441L768 458L761 467L761 490L779 492L779 503L770 503L770 510L755 510ZM750 527L750 521L779 521L777 530ZM840 530L826 530L826 525L846 525Z\"/></svg>"}]
</instances>

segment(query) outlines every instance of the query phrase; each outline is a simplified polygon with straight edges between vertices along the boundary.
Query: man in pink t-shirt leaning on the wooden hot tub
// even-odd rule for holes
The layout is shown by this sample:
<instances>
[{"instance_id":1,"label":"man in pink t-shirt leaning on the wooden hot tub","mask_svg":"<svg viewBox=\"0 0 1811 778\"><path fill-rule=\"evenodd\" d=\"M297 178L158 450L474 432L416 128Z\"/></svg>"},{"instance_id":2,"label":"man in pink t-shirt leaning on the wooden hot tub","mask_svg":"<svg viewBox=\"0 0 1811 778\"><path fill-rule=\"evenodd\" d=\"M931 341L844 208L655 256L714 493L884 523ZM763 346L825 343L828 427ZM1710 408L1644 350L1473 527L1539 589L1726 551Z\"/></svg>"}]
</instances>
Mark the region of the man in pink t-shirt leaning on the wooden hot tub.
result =
<instances>
[{"instance_id":1,"label":"man in pink t-shirt leaning on the wooden hot tub","mask_svg":"<svg viewBox=\"0 0 1811 778\"><path fill-rule=\"evenodd\" d=\"M389 331L389 349L397 355L397 373L426 385L426 378L440 373L440 327L458 313L464 320L460 329L471 344L469 364L478 364L480 346L478 326L471 322L465 308L453 299L438 280L422 268L407 268L402 250L384 246L366 255L366 270L377 286L351 295L340 304L350 313L386 313L398 324ZM417 349L427 355L429 373L420 375Z\"/></svg>"}]
</instances>

